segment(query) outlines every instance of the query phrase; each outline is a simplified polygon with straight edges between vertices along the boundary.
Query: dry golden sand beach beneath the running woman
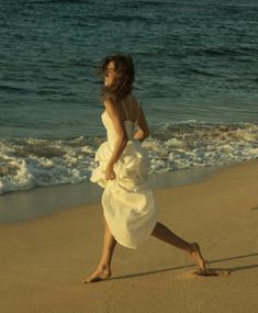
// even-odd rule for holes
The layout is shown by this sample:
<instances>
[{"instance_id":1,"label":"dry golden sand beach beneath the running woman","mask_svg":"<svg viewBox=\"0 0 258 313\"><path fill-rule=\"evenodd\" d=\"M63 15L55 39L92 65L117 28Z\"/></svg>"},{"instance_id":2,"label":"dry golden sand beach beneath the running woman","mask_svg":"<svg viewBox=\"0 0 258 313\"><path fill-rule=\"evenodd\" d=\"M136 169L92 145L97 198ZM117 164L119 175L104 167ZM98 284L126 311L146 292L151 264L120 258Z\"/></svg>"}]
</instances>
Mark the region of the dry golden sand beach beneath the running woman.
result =
<instances>
[{"instance_id":1,"label":"dry golden sand beach beneath the running woman","mask_svg":"<svg viewBox=\"0 0 258 313\"><path fill-rule=\"evenodd\" d=\"M194 275L188 255L150 237L137 250L117 245L112 278L85 284L99 261L103 221L100 203L79 205L0 225L1 312L257 312L258 160L155 197L159 221L197 241L221 275Z\"/></svg>"}]
</instances>

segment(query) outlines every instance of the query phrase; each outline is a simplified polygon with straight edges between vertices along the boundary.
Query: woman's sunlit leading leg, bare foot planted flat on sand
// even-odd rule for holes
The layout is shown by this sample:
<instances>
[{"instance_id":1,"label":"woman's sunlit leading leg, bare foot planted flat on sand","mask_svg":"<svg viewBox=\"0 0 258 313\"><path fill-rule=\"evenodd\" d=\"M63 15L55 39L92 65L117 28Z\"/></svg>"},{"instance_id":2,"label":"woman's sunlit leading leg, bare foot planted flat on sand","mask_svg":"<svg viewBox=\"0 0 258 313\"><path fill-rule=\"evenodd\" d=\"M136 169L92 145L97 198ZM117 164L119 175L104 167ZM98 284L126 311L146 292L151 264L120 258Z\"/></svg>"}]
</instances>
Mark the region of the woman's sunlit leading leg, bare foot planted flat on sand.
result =
<instances>
[{"instance_id":1,"label":"woman's sunlit leading leg, bare foot planted flat on sand","mask_svg":"<svg viewBox=\"0 0 258 313\"><path fill-rule=\"evenodd\" d=\"M106 279L111 276L111 260L114 253L114 248L116 245L116 241L110 232L109 225L104 220L104 239L103 239L103 248L102 255L100 258L99 266L96 271L88 276L82 282L94 282L99 280Z\"/></svg>"}]
</instances>

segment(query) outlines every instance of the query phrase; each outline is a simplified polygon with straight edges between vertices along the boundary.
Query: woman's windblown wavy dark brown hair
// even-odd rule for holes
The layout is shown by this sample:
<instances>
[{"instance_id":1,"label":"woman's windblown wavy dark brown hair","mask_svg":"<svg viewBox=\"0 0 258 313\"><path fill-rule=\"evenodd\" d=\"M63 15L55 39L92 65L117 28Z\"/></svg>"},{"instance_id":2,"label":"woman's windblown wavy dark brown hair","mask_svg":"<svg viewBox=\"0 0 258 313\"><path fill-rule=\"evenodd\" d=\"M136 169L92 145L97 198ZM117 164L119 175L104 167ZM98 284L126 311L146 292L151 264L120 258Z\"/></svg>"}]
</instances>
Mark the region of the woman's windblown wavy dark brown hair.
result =
<instances>
[{"instance_id":1,"label":"woman's windblown wavy dark brown hair","mask_svg":"<svg viewBox=\"0 0 258 313\"><path fill-rule=\"evenodd\" d=\"M99 66L99 75L104 75L108 64L114 63L116 79L111 86L101 88L101 99L119 102L131 93L134 82L134 63L131 55L114 54L103 58Z\"/></svg>"}]
</instances>

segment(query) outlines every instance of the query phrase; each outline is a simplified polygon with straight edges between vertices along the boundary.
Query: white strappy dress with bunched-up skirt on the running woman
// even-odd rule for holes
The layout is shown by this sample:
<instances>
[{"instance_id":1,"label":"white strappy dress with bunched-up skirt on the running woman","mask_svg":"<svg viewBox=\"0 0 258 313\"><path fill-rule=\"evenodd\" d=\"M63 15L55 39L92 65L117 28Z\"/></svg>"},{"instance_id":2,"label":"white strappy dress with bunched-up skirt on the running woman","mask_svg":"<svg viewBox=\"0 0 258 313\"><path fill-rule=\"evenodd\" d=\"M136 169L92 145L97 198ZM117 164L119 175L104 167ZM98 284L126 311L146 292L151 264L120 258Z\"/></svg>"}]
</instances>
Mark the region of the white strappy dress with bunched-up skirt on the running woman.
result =
<instances>
[{"instance_id":1,"label":"white strappy dress with bunched-up skirt on the running woman","mask_svg":"<svg viewBox=\"0 0 258 313\"><path fill-rule=\"evenodd\" d=\"M124 110L127 116L125 105ZM106 180L105 167L114 148L116 133L106 111L101 118L108 141L96 153L99 166L92 171L90 180L104 188L101 202L112 235L121 245L136 249L150 237L158 217L149 187L148 155L141 142L133 137L135 123L127 116L124 123L128 142L114 165L116 178Z\"/></svg>"}]
</instances>

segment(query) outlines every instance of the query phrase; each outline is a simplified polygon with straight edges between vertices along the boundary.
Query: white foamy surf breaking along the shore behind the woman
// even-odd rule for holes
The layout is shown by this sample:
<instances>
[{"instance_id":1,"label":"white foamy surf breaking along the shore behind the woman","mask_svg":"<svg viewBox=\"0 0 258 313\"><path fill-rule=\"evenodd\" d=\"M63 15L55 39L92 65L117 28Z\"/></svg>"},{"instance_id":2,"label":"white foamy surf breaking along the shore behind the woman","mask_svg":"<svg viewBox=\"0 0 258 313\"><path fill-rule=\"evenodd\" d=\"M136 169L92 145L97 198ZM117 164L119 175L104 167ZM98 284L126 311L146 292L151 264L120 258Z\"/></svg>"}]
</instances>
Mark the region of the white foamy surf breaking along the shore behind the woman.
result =
<instances>
[{"instance_id":1,"label":"white foamy surf breaking along the shore behind the woman","mask_svg":"<svg viewBox=\"0 0 258 313\"><path fill-rule=\"evenodd\" d=\"M104 137L0 139L0 193L88 181ZM143 143L150 172L220 166L258 158L258 124L161 124Z\"/></svg>"}]
</instances>

